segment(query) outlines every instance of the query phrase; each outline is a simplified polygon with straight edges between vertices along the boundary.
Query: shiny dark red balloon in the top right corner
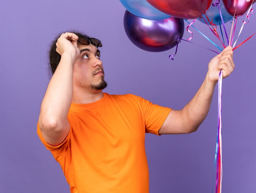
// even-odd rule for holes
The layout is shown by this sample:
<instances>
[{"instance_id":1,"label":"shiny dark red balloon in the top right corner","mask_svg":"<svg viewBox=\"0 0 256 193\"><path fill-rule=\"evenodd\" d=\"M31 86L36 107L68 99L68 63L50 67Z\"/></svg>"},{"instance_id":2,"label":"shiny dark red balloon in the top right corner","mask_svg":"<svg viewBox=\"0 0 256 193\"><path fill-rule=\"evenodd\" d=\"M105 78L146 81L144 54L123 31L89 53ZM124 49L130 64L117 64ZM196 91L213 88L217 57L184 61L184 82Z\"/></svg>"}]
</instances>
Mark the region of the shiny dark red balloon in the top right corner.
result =
<instances>
[{"instance_id":1,"label":"shiny dark red balloon in the top right corner","mask_svg":"<svg viewBox=\"0 0 256 193\"><path fill-rule=\"evenodd\" d=\"M231 16L243 15L255 2L255 0L223 0L226 10Z\"/></svg>"}]
</instances>

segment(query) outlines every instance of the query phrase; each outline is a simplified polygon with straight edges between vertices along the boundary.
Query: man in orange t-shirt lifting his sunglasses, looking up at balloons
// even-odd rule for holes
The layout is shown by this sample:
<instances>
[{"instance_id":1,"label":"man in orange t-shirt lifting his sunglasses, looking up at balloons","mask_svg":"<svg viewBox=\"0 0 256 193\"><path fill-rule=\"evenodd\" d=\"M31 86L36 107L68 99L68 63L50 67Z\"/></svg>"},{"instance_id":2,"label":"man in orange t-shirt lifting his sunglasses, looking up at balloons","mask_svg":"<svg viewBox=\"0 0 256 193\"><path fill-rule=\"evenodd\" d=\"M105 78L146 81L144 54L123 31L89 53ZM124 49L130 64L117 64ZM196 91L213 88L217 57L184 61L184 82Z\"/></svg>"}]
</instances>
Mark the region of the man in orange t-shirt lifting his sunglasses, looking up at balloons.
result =
<instances>
[{"instance_id":1,"label":"man in orange t-shirt lifting his sunglasses, looking up at balloons","mask_svg":"<svg viewBox=\"0 0 256 193\"><path fill-rule=\"evenodd\" d=\"M56 45L55 45L56 43ZM147 193L145 132L191 133L207 116L218 75L234 69L227 47L209 63L200 89L182 110L132 94L103 93L101 42L78 32L52 45L52 79L42 101L38 135L63 169L72 193Z\"/></svg>"}]
</instances>

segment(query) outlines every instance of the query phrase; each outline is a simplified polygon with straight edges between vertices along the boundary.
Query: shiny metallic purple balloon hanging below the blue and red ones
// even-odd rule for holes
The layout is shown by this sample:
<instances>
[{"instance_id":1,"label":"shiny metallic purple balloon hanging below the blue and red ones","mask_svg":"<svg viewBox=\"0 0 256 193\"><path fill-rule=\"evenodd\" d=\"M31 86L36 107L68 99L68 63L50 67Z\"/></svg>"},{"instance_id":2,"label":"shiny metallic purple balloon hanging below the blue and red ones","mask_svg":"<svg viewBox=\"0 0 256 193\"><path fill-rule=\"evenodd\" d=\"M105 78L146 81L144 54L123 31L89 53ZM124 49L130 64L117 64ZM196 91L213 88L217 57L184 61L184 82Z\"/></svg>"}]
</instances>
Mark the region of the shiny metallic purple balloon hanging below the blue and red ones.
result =
<instances>
[{"instance_id":1,"label":"shiny metallic purple balloon hanging below the blue and red ones","mask_svg":"<svg viewBox=\"0 0 256 193\"><path fill-rule=\"evenodd\" d=\"M148 52L163 52L177 45L184 34L184 20L170 17L164 20L147 20L126 10L124 30L130 41Z\"/></svg>"}]
</instances>

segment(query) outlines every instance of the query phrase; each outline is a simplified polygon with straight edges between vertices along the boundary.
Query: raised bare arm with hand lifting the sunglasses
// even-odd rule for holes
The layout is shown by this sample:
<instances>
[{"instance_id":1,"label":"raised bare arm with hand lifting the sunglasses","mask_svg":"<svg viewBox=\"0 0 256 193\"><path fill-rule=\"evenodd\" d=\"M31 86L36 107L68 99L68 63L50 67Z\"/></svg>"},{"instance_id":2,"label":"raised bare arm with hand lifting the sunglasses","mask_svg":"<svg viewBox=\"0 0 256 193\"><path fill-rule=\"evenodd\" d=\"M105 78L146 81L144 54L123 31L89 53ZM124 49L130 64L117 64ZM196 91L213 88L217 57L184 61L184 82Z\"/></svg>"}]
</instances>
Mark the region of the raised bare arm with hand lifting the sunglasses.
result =
<instances>
[{"instance_id":1,"label":"raised bare arm with hand lifting the sunglasses","mask_svg":"<svg viewBox=\"0 0 256 193\"><path fill-rule=\"evenodd\" d=\"M61 54L61 61L41 104L39 127L44 139L52 146L61 144L70 128L67 113L73 95L73 67L79 54L77 39L72 33L62 34L58 39L56 51Z\"/></svg>"}]
</instances>

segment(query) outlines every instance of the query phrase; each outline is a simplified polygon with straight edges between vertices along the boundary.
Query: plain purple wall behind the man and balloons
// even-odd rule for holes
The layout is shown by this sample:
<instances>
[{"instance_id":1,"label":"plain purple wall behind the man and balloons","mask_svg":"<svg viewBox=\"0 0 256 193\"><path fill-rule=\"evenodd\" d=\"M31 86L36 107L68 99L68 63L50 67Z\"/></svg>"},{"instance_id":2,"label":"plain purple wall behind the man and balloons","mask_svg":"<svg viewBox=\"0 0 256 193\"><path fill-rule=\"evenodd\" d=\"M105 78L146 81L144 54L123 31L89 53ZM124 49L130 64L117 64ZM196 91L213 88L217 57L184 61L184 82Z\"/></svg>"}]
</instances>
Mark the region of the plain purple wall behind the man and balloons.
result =
<instances>
[{"instance_id":1,"label":"plain purple wall behind the man and balloons","mask_svg":"<svg viewBox=\"0 0 256 193\"><path fill-rule=\"evenodd\" d=\"M61 167L36 134L40 103L49 82L47 49L60 31L75 28L102 41L101 59L108 81L105 92L137 94L153 103L180 109L198 90L215 53L185 41L180 43L174 61L168 56L175 53L175 48L159 53L141 50L124 32L125 10L118 0L1 2L0 192L69 192ZM255 23L254 13L238 43L256 32ZM195 22L195 26L213 37L207 25ZM231 24L226 27L229 33ZM190 29L192 42L216 50ZM189 37L185 28L183 38ZM255 38L234 51L236 69L222 85L222 191L225 193L256 192ZM211 192L216 180L213 166L217 95L216 87L210 112L197 132L146 135L150 193Z\"/></svg>"}]
</instances>

